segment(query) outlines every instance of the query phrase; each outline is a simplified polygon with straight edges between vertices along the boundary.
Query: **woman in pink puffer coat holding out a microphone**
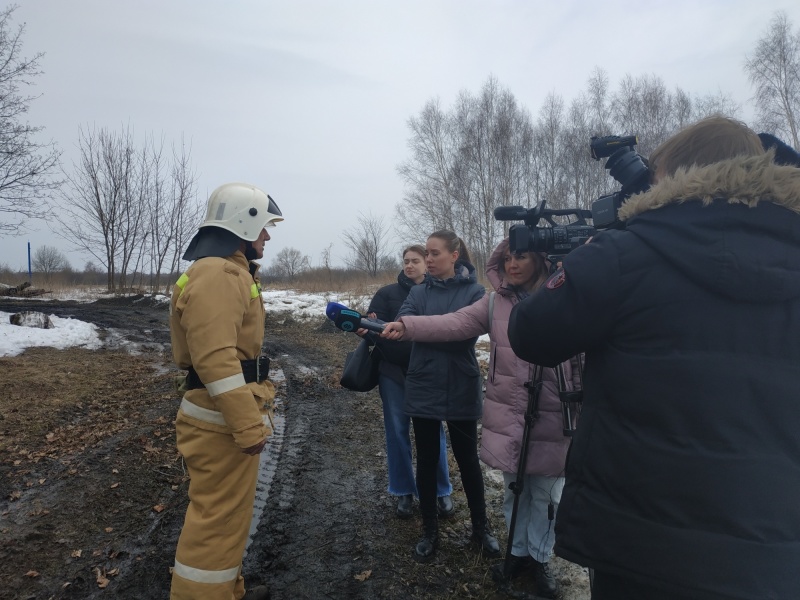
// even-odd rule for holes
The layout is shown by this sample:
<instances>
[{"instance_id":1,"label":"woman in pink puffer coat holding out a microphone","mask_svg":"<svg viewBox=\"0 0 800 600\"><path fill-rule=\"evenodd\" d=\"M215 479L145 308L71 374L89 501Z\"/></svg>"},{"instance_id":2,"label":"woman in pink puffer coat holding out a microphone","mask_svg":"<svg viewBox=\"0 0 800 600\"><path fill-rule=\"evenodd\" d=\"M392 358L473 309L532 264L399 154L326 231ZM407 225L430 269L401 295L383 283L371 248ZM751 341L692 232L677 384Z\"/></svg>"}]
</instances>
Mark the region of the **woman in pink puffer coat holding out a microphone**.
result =
<instances>
[{"instance_id":1,"label":"woman in pink puffer coat holding out a microphone","mask_svg":"<svg viewBox=\"0 0 800 600\"><path fill-rule=\"evenodd\" d=\"M503 472L505 500L503 510L510 524L514 493L509 484L516 479L528 388L534 365L518 358L508 341L508 319L513 306L547 280L549 263L535 252L511 254L508 240L492 253L486 276L495 289L474 304L454 313L435 316L405 316L387 324L382 334L389 339L418 342L450 342L489 334L491 355L483 406L481 460ZM490 311L491 309L491 311ZM490 315L491 312L491 315ZM579 381L574 361L562 366L567 389ZM510 564L506 572L513 578L531 569L540 596L552 598L557 583L549 571L553 551L553 526L561 490L569 438L563 434L558 379L555 369L543 370L538 418L530 432L523 492L517 508L517 521ZM503 572L497 565L496 574Z\"/></svg>"}]
</instances>

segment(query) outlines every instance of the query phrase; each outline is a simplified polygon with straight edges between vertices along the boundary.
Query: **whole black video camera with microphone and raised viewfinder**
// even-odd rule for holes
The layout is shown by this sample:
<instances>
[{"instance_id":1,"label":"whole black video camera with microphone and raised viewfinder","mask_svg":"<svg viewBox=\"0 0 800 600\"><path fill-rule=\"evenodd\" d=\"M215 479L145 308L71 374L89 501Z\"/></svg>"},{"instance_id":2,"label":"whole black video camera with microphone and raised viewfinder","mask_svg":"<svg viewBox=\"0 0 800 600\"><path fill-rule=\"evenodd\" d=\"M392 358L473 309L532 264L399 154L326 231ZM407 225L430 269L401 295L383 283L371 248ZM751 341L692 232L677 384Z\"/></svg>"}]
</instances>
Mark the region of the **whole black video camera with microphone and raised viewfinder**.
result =
<instances>
[{"instance_id":1,"label":"whole black video camera with microphone and raised viewfinder","mask_svg":"<svg viewBox=\"0 0 800 600\"><path fill-rule=\"evenodd\" d=\"M635 135L592 137L589 144L592 158L600 160L608 157L605 168L622 184L622 189L592 202L590 211L579 208L548 209L545 208L544 200L530 209L522 206L495 208L494 218L498 221L524 222L524 225L512 225L509 229L511 252L546 252L550 261L555 264L560 258L585 244L597 230L621 228L623 224L617 218L617 212L622 202L650 187L650 169L645 159L633 149L637 143ZM575 220L567 225L559 225L553 220L553 217L570 216ZM549 227L539 227L542 219ZM586 219L591 219L592 225Z\"/></svg>"}]
</instances>

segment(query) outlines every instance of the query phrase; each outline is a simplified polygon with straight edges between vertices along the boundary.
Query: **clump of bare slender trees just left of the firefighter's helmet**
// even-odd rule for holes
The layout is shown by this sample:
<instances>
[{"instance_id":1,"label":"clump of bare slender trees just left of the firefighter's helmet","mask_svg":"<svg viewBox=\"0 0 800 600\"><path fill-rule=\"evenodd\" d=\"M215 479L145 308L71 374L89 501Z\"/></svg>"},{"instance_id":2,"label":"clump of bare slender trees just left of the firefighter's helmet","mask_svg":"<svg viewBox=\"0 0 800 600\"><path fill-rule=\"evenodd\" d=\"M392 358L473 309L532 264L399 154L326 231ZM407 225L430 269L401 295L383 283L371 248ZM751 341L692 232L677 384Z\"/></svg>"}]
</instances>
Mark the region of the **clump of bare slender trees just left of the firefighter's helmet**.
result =
<instances>
[{"instance_id":1,"label":"clump of bare slender trees just left of the firefighter's helmet","mask_svg":"<svg viewBox=\"0 0 800 600\"><path fill-rule=\"evenodd\" d=\"M150 137L136 149L130 129L81 130L79 162L65 173L66 218L57 233L106 268L109 291L125 288L140 266L155 269L158 288L168 257L172 272L196 229L201 209L189 154L173 148L170 167L162 148Z\"/></svg>"}]
</instances>

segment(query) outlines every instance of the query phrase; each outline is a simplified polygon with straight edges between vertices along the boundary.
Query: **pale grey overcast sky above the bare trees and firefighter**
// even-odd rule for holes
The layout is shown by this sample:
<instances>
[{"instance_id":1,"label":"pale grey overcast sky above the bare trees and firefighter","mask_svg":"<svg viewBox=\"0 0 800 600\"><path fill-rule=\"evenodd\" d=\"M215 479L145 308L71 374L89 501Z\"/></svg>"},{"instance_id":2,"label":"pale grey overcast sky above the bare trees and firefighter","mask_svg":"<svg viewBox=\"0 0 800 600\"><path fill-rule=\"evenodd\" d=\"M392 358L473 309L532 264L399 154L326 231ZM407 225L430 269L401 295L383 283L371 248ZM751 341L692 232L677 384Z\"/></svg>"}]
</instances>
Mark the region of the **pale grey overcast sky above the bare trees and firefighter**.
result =
<instances>
[{"instance_id":1,"label":"pale grey overcast sky above the bare trees and firefighter","mask_svg":"<svg viewBox=\"0 0 800 600\"><path fill-rule=\"evenodd\" d=\"M316 265L330 243L341 262L359 212L388 222L407 121L432 98L450 107L494 75L535 119L548 93L569 103L602 67L612 90L626 74L654 74L670 89L729 93L749 120L746 54L776 11L800 26L797 0L17 3L24 54L45 53L29 122L65 167L81 127L130 126L167 147L183 135L203 199L245 181L281 207L267 264L291 246ZM0 238L0 263L27 268L28 240L68 251L34 225ZM78 269L89 258L67 255Z\"/></svg>"}]
</instances>

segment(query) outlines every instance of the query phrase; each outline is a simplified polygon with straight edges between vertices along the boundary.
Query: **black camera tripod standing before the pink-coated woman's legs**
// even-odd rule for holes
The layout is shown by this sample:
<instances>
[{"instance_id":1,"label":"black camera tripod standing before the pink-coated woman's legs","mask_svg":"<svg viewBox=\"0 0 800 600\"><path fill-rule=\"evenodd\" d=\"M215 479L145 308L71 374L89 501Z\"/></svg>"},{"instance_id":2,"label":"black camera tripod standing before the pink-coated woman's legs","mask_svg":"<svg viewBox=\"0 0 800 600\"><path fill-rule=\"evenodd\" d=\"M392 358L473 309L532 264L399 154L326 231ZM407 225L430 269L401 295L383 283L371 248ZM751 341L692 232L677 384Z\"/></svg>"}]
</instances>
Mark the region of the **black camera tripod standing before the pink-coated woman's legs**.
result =
<instances>
[{"instance_id":1,"label":"black camera tripod standing before the pink-coated woman's legs","mask_svg":"<svg viewBox=\"0 0 800 600\"><path fill-rule=\"evenodd\" d=\"M577 418L580 414L580 405L583 401L583 356L576 357L578 374L581 379L580 390L568 390L567 379L564 373L563 363L556 367L558 378L558 396L561 401L561 417L563 422L563 433L566 437L572 437L576 430ZM514 532L517 524L517 512L519 509L519 499L525 488L525 470L528 463L528 446L530 444L530 434L536 421L539 419L539 397L542 392L544 367L533 365L533 376L530 381L525 382L528 390L528 406L525 410L525 427L522 432L522 444L519 461L517 462L517 472L515 480L509 485L509 489L514 493L514 504L511 509L511 520L508 527L508 542L506 544L506 558L503 561L503 572L500 580L500 589L515 598L531 599L525 592L512 590L510 587L510 568L511 550L514 546ZM552 505L551 505L552 506ZM552 520L553 513L548 511L548 516ZM591 587L592 572L589 572L589 583Z\"/></svg>"}]
</instances>

